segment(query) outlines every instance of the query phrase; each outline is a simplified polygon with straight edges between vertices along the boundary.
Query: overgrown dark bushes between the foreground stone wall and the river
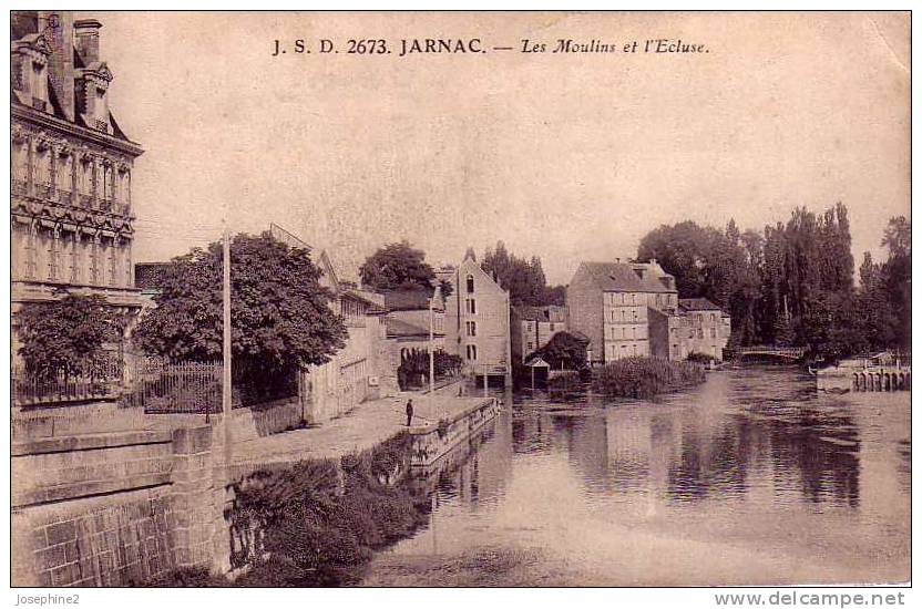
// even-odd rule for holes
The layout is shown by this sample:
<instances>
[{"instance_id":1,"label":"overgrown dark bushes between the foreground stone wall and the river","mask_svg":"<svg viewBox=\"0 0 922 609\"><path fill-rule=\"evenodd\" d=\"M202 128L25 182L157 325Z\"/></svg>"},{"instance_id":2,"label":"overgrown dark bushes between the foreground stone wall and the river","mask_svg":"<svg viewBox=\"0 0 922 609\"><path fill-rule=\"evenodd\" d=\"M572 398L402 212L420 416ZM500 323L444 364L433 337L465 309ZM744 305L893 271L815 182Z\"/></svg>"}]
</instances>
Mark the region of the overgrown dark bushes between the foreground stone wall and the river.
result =
<instances>
[{"instance_id":1,"label":"overgrown dark bushes between the foreground stone wall and the river","mask_svg":"<svg viewBox=\"0 0 922 609\"><path fill-rule=\"evenodd\" d=\"M372 553L428 522L424 493L414 493L410 436L401 434L359 455L306 461L258 472L236 489L232 514L242 540L229 582L182 569L146 586L307 587L358 582Z\"/></svg>"}]
</instances>

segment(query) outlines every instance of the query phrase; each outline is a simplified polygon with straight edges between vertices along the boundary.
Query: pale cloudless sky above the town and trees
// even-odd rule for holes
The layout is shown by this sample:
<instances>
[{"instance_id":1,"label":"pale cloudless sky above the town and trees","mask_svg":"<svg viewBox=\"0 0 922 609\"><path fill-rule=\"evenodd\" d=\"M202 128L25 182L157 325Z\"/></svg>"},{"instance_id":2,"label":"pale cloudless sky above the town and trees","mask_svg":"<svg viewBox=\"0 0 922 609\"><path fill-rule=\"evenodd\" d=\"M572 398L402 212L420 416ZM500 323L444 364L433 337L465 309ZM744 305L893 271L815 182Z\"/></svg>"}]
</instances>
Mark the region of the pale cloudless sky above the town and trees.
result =
<instances>
[{"instance_id":1,"label":"pale cloudless sky above the town and trees","mask_svg":"<svg viewBox=\"0 0 922 609\"><path fill-rule=\"evenodd\" d=\"M136 261L276 223L354 277L386 242L431 264L498 240L565 283L686 219L761 230L837 202L857 261L909 216L900 13L80 13L110 106L146 151ZM316 52L320 38L344 52ZM345 53L383 38L393 53ZM400 40L485 54L399 58ZM521 53L522 39L682 39L696 54ZM272 56L275 40L313 54ZM493 47L513 47L494 51Z\"/></svg>"}]
</instances>

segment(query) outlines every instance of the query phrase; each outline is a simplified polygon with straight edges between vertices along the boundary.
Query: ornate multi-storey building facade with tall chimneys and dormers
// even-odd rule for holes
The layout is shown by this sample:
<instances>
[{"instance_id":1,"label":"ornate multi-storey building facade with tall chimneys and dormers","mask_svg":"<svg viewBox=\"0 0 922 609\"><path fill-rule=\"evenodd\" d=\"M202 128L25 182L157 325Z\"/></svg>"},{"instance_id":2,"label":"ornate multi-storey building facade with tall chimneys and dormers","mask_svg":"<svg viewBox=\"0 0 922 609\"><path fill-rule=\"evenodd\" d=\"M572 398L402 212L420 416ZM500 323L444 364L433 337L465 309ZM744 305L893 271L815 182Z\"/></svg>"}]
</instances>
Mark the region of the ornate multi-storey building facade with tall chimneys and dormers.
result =
<instances>
[{"instance_id":1,"label":"ornate multi-storey building facade with tall chimneys and dormers","mask_svg":"<svg viewBox=\"0 0 922 609\"><path fill-rule=\"evenodd\" d=\"M96 293L141 307L132 271L132 169L142 148L109 111L95 20L11 17L12 309Z\"/></svg>"}]
</instances>

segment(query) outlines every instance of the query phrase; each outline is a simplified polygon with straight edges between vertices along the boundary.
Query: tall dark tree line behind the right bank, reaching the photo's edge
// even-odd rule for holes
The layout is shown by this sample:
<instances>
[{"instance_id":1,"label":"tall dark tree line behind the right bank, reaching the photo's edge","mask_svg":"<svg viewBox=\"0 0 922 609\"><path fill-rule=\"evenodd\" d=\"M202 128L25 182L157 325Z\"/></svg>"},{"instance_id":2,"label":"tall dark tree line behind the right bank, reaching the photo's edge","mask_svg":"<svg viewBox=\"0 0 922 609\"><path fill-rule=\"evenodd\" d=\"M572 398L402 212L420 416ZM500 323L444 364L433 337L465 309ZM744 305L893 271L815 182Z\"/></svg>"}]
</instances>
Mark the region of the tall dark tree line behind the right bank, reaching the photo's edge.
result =
<instances>
[{"instance_id":1,"label":"tall dark tree line behind the right bank, reaching the photo's edge","mask_svg":"<svg viewBox=\"0 0 922 609\"><path fill-rule=\"evenodd\" d=\"M694 221L649 231L638 260L656 259L675 276L683 298L704 297L733 319L730 345L802 345L811 354L842 358L880 349L909 349L910 223L891 218L881 245L870 252L856 286L847 207L821 214L806 207L787 223L740 233Z\"/></svg>"}]
</instances>

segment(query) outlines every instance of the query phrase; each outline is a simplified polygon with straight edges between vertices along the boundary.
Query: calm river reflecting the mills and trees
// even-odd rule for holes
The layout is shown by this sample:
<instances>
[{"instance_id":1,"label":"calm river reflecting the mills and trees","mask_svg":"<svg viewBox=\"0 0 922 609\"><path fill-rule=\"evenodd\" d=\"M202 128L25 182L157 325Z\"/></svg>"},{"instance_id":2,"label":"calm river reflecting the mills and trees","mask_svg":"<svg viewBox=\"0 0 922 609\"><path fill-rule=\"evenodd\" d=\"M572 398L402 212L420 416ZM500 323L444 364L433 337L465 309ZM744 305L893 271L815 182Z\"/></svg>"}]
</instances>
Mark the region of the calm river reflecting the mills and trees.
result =
<instances>
[{"instance_id":1,"label":"calm river reflecting the mills and trees","mask_svg":"<svg viewBox=\"0 0 922 609\"><path fill-rule=\"evenodd\" d=\"M910 452L909 392L818 394L793 368L655 401L516 394L363 584L908 581Z\"/></svg>"}]
</instances>

